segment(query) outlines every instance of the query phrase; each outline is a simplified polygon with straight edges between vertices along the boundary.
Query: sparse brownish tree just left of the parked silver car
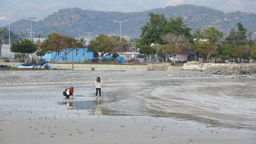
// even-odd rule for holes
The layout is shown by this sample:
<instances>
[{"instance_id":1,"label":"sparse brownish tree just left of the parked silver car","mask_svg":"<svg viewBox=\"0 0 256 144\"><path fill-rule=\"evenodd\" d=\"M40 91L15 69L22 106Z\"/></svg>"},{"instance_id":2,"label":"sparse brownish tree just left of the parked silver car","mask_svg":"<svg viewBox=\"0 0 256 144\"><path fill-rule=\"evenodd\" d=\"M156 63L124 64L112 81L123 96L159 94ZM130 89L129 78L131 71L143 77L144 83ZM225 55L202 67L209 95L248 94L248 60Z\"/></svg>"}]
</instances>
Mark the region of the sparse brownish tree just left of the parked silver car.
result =
<instances>
[{"instance_id":1,"label":"sparse brownish tree just left of the parked silver car","mask_svg":"<svg viewBox=\"0 0 256 144\"><path fill-rule=\"evenodd\" d=\"M160 48L162 51L170 53L172 57L174 57L174 55L177 53L186 53L188 50L190 50L190 42L184 35L177 36L172 33L167 33L166 35L162 36L162 39L165 44L160 45Z\"/></svg>"}]
</instances>

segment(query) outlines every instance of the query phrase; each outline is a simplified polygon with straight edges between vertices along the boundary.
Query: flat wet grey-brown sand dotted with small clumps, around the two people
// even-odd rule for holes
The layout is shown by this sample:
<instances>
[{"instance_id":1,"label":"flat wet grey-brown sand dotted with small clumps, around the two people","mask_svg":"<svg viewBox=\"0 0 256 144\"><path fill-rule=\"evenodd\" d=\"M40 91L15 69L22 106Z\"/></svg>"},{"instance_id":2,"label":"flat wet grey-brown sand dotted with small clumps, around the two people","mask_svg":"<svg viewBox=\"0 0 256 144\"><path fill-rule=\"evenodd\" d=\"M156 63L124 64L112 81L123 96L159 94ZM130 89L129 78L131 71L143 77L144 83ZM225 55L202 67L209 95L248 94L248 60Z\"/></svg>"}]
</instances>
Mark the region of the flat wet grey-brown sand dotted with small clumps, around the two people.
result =
<instances>
[{"instance_id":1,"label":"flat wet grey-brown sand dotted with small clumps, around the two people","mask_svg":"<svg viewBox=\"0 0 256 144\"><path fill-rule=\"evenodd\" d=\"M158 117L158 111L148 115L133 111L128 107L131 103L126 98L131 92L127 87L142 91L145 85L141 83L140 86L105 83L102 98L96 100L92 84L74 85L75 99L64 99L62 91L69 86L0 86L0 143L251 144L256 141L255 129L221 127L204 123L200 118L191 121ZM121 104L122 108L111 107L126 100L127 108ZM140 104L134 105L138 111L143 109Z\"/></svg>"}]
</instances>

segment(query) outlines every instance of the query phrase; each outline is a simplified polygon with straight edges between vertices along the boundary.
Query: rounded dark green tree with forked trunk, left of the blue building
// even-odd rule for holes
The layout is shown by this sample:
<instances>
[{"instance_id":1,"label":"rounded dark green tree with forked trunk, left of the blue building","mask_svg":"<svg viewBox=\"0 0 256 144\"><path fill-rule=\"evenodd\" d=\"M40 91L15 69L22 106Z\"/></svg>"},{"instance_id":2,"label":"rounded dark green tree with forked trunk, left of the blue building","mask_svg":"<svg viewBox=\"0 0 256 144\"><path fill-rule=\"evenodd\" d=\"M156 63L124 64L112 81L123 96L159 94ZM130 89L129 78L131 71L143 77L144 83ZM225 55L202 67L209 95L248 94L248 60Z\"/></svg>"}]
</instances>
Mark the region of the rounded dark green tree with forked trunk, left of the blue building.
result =
<instances>
[{"instance_id":1,"label":"rounded dark green tree with forked trunk, left of the blue building","mask_svg":"<svg viewBox=\"0 0 256 144\"><path fill-rule=\"evenodd\" d=\"M11 52L19 53L23 57L25 62L28 54L34 53L36 52L36 50L36 44L34 44L32 40L29 40L27 38L23 39L21 42L14 42L11 46Z\"/></svg>"}]
</instances>

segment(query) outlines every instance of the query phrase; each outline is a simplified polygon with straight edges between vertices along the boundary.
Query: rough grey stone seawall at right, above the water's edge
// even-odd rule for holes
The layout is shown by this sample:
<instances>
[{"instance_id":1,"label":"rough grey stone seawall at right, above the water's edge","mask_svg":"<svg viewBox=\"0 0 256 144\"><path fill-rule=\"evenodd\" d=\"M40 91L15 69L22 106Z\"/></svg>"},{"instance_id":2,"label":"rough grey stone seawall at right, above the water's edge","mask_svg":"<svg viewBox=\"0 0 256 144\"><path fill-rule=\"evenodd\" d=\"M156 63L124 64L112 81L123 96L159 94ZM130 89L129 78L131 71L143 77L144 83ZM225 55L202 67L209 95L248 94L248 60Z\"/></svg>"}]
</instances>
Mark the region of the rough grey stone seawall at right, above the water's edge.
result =
<instances>
[{"instance_id":1,"label":"rough grey stone seawall at right, above the water's edge","mask_svg":"<svg viewBox=\"0 0 256 144\"><path fill-rule=\"evenodd\" d=\"M184 64L183 70L201 71L205 74L249 74L256 73L256 64L215 64L215 63L200 63L200 64Z\"/></svg>"}]
</instances>

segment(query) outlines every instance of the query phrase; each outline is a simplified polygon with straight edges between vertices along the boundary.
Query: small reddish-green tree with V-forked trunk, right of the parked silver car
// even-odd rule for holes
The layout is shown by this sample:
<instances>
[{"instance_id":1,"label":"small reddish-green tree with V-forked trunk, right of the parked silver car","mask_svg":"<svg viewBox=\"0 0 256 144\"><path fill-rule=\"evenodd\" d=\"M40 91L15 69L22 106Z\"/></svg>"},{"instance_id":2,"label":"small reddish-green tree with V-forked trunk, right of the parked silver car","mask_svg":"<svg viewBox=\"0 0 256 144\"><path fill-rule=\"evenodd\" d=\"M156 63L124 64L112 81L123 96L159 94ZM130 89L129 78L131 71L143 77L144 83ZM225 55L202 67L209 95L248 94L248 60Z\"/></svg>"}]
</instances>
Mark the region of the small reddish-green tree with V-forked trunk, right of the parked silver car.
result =
<instances>
[{"instance_id":1,"label":"small reddish-green tree with V-forked trunk, right of the parked silver car","mask_svg":"<svg viewBox=\"0 0 256 144\"><path fill-rule=\"evenodd\" d=\"M217 53L217 46L211 44L210 42L202 42L197 45L196 51L204 53L207 58L207 63L208 63L209 57L212 54Z\"/></svg>"}]
</instances>

